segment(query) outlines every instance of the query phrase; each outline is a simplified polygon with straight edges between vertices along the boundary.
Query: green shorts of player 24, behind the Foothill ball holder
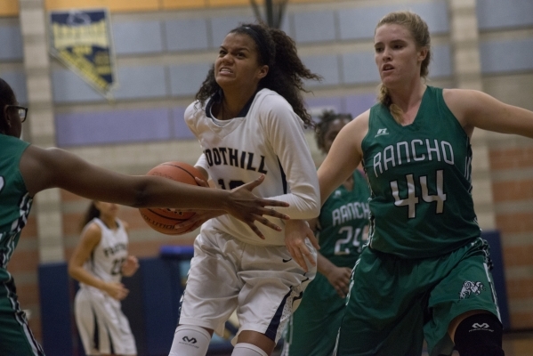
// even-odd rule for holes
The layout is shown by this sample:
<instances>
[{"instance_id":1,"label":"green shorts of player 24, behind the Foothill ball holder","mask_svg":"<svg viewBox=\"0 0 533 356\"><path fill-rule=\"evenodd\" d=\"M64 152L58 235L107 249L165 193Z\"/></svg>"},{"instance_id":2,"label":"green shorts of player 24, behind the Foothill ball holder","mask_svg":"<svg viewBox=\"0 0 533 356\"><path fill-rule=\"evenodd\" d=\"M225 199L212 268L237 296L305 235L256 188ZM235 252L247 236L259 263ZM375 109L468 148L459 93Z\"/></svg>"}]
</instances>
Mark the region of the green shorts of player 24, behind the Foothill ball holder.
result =
<instances>
[{"instance_id":1,"label":"green shorts of player 24, behind the Foothill ball holder","mask_svg":"<svg viewBox=\"0 0 533 356\"><path fill-rule=\"evenodd\" d=\"M317 273L303 293L285 336L285 356L331 355L343 319L346 299Z\"/></svg>"}]
</instances>

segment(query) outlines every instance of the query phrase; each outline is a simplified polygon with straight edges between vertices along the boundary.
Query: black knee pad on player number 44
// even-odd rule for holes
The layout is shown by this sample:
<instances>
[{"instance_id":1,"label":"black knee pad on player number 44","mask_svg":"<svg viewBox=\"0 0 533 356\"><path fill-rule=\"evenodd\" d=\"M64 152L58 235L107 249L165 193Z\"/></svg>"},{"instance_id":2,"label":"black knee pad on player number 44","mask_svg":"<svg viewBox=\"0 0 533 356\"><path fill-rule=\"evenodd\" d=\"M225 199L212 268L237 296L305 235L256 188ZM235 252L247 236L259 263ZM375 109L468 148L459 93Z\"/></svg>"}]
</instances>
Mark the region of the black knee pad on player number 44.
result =
<instances>
[{"instance_id":1,"label":"black knee pad on player number 44","mask_svg":"<svg viewBox=\"0 0 533 356\"><path fill-rule=\"evenodd\" d=\"M456 350L461 356L504 356L502 324L493 314L472 315L456 328Z\"/></svg>"}]
</instances>

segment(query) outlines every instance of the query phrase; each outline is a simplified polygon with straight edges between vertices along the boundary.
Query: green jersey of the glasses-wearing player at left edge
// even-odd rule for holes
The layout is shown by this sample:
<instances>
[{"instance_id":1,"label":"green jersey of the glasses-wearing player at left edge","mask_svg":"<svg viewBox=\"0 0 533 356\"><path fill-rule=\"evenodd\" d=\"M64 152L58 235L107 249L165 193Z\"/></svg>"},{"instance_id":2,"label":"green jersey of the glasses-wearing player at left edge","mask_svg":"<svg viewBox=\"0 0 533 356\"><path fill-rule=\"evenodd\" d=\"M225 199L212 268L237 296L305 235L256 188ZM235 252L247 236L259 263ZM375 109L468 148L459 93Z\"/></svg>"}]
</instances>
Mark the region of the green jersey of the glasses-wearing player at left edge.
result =
<instances>
[{"instance_id":1,"label":"green jersey of the glasses-wearing player at left edge","mask_svg":"<svg viewBox=\"0 0 533 356\"><path fill-rule=\"evenodd\" d=\"M0 134L0 282L10 278L5 268L28 221L32 199L20 175L20 156L28 142Z\"/></svg>"}]
</instances>

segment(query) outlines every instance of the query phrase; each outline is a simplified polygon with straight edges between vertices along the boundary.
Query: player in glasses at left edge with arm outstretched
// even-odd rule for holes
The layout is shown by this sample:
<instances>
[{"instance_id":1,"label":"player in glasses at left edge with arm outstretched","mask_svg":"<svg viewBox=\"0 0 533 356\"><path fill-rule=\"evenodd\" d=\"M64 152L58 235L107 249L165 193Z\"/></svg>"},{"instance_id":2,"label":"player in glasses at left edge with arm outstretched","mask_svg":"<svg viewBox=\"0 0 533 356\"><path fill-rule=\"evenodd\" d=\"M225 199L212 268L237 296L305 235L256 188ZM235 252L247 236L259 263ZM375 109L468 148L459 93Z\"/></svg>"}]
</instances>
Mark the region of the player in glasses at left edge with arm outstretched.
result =
<instances>
[{"instance_id":1,"label":"player in glasses at left edge with arm outstretched","mask_svg":"<svg viewBox=\"0 0 533 356\"><path fill-rule=\"evenodd\" d=\"M62 188L85 198L126 206L178 209L223 209L262 236L254 222L279 231L262 215L285 218L264 206L287 203L255 197L250 191L264 177L237 190L206 190L156 176L117 174L60 149L43 150L20 140L28 108L17 102L10 85L0 78L0 355L42 355L20 310L11 274L7 271L20 231L28 221L37 192Z\"/></svg>"}]
</instances>

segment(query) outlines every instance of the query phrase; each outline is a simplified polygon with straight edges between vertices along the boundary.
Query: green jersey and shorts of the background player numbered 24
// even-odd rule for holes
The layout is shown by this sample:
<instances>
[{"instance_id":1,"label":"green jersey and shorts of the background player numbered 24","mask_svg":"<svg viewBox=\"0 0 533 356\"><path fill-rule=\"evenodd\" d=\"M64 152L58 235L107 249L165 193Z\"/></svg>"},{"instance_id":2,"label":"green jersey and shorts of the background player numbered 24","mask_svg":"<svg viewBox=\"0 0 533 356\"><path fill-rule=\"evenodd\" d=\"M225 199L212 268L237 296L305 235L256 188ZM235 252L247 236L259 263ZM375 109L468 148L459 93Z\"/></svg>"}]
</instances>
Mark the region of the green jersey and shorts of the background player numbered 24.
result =
<instances>
[{"instance_id":1,"label":"green jersey and shorts of the background player numbered 24","mask_svg":"<svg viewBox=\"0 0 533 356\"><path fill-rule=\"evenodd\" d=\"M350 269L359 258L370 217L367 180L359 171L352 177L352 190L341 185L322 206L317 234L320 254L336 266ZM285 355L331 355L345 303L327 278L317 273L287 328Z\"/></svg>"}]
</instances>

